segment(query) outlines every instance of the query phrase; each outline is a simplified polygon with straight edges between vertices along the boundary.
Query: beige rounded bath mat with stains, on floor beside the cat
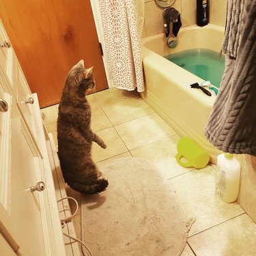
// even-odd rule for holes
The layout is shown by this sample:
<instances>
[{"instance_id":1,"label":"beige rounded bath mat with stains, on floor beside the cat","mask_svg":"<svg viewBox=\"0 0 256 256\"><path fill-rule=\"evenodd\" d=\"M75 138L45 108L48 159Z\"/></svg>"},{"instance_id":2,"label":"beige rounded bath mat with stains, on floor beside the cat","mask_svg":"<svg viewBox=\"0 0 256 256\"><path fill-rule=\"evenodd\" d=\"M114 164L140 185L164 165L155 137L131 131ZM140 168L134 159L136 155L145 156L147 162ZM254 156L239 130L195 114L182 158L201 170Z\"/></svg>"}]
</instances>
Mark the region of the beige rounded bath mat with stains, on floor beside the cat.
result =
<instances>
[{"instance_id":1,"label":"beige rounded bath mat with stains, on floor beside the cat","mask_svg":"<svg viewBox=\"0 0 256 256\"><path fill-rule=\"evenodd\" d=\"M186 225L162 173L147 160L99 165L109 186L82 195L81 237L95 256L172 256L186 245Z\"/></svg>"}]
</instances>

